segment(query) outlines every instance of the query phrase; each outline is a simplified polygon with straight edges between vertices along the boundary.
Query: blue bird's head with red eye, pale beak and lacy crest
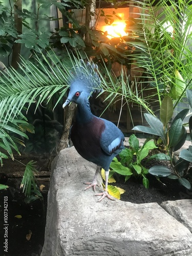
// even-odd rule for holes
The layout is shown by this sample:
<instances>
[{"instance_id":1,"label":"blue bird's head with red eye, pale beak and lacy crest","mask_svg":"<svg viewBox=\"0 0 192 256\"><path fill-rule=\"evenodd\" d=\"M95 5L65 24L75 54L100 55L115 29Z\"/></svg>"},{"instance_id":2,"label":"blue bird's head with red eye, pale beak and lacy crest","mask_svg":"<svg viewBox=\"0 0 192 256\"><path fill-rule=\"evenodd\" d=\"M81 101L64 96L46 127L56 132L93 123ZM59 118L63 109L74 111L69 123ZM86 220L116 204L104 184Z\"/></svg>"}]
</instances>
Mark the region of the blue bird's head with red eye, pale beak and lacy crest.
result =
<instances>
[{"instance_id":1,"label":"blue bird's head with red eye, pale beak and lacy crest","mask_svg":"<svg viewBox=\"0 0 192 256\"><path fill-rule=\"evenodd\" d=\"M76 65L74 72L74 77L70 82L70 92L67 100L62 105L63 109L71 101L79 104L87 100L89 96L94 92L101 90L100 88L100 78L96 72L97 65L84 63L82 60Z\"/></svg>"}]
</instances>

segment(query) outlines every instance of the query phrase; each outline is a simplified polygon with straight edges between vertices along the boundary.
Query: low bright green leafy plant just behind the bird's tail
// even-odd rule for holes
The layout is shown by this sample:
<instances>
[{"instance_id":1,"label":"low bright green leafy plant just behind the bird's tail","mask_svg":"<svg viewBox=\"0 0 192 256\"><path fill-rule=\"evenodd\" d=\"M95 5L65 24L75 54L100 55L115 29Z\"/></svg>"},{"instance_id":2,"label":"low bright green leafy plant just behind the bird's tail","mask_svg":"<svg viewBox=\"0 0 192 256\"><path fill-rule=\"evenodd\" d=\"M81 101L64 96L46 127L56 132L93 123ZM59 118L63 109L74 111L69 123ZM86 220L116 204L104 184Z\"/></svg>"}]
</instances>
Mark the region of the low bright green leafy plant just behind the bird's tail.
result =
<instances>
[{"instance_id":1,"label":"low bright green leafy plant just behind the bird's tail","mask_svg":"<svg viewBox=\"0 0 192 256\"><path fill-rule=\"evenodd\" d=\"M114 172L124 175L125 181L132 175L136 178L142 177L143 185L148 188L149 181L146 177L148 169L144 167L143 161L148 156L151 150L157 148L154 141L146 140L142 147L139 146L139 140L132 134L129 139L130 147L125 148L120 154L120 161L114 158L110 168Z\"/></svg>"}]
</instances>

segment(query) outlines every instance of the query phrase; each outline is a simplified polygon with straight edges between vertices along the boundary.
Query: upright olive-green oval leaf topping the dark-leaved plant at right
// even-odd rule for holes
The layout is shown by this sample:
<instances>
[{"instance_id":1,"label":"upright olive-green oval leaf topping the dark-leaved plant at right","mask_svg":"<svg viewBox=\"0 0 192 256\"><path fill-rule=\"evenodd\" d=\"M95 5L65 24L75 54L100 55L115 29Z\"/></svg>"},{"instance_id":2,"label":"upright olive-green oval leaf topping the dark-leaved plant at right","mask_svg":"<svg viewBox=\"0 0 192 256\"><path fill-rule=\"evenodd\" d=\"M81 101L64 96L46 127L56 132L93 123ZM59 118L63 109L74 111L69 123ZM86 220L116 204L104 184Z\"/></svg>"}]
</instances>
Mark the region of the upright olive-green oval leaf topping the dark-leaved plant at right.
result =
<instances>
[{"instance_id":1,"label":"upright olive-green oval leaf topping the dark-leaved plant at right","mask_svg":"<svg viewBox=\"0 0 192 256\"><path fill-rule=\"evenodd\" d=\"M166 127L174 113L173 100L169 96L164 97L160 108L160 120Z\"/></svg>"}]
</instances>

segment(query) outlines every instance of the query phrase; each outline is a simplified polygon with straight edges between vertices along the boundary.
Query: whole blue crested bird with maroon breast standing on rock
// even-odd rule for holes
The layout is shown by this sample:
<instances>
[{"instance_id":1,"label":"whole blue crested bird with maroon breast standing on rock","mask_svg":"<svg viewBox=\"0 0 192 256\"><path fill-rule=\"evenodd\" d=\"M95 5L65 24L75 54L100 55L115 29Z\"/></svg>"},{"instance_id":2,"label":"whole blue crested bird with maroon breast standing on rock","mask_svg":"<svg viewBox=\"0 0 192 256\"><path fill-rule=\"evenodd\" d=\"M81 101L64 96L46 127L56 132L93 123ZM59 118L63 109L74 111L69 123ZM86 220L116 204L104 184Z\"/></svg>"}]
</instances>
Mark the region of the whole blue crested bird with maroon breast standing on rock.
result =
<instances>
[{"instance_id":1,"label":"whole blue crested bird with maroon breast standing on rock","mask_svg":"<svg viewBox=\"0 0 192 256\"><path fill-rule=\"evenodd\" d=\"M89 96L100 87L100 78L95 68L95 65L88 62L87 65L75 69L68 98L62 107L65 108L71 101L77 104L76 121L71 127L71 140L79 155L97 164L93 181L84 183L89 185L84 190L93 187L95 192L95 187L98 186L97 175L101 168L105 170L105 189L95 195L101 196L98 200L100 202L105 197L114 200L108 194L109 167L113 158L123 149L124 135L114 123L91 113Z\"/></svg>"}]
</instances>

